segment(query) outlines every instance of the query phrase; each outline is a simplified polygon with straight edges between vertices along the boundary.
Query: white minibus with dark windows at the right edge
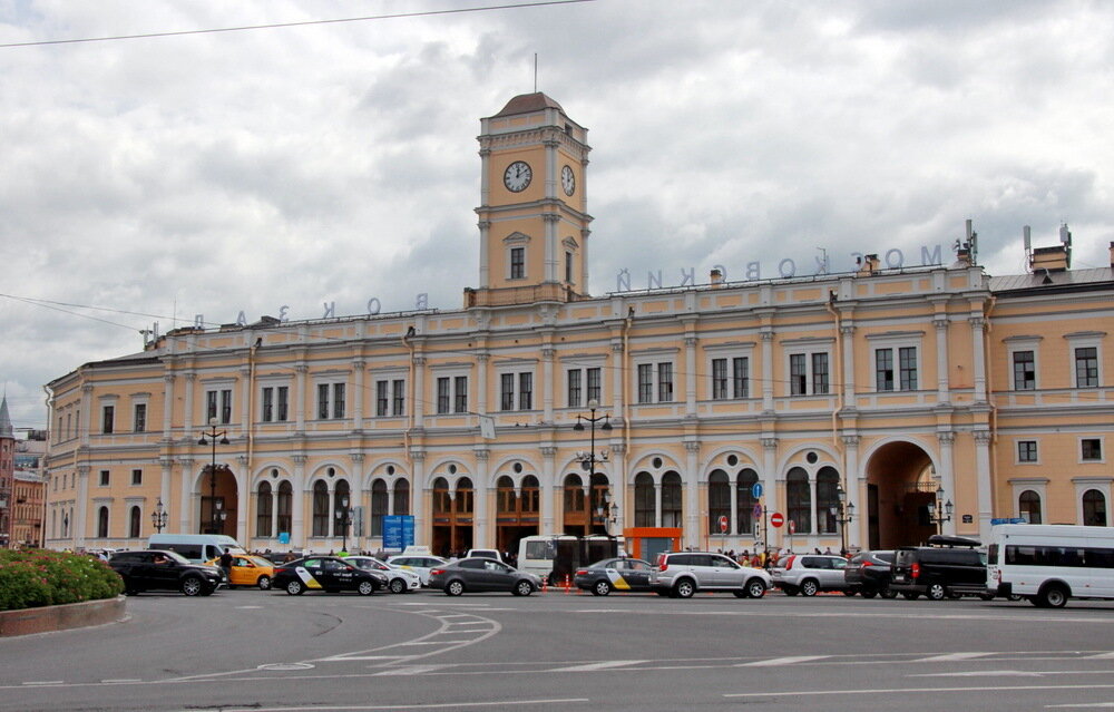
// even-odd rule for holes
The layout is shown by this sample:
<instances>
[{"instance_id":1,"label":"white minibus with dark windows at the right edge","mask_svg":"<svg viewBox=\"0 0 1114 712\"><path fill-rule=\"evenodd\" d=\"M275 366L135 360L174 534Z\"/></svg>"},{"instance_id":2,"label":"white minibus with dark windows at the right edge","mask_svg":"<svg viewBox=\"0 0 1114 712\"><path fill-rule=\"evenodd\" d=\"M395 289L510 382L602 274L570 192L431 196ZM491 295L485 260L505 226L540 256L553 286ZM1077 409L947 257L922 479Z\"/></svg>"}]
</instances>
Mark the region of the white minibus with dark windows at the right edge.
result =
<instances>
[{"instance_id":1,"label":"white minibus with dark windows at the right edge","mask_svg":"<svg viewBox=\"0 0 1114 712\"><path fill-rule=\"evenodd\" d=\"M987 589L1059 608L1068 598L1114 601L1114 527L999 524L990 527Z\"/></svg>"}]
</instances>

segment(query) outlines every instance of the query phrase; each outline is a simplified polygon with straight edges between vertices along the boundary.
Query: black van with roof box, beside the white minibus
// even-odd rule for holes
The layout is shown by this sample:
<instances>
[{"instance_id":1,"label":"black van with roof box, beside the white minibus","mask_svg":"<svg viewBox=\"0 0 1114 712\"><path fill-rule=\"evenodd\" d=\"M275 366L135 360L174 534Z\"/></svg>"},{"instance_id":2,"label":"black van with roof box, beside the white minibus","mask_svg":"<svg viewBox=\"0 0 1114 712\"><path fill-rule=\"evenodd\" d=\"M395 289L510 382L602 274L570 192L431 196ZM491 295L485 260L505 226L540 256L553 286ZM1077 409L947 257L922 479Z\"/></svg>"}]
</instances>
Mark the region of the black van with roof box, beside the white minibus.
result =
<instances>
[{"instance_id":1,"label":"black van with roof box, beside the white minibus","mask_svg":"<svg viewBox=\"0 0 1114 712\"><path fill-rule=\"evenodd\" d=\"M986 558L975 539L930 536L929 546L902 547L893 555L890 591L908 599L924 594L931 601L976 595L994 596L986 589Z\"/></svg>"}]
</instances>

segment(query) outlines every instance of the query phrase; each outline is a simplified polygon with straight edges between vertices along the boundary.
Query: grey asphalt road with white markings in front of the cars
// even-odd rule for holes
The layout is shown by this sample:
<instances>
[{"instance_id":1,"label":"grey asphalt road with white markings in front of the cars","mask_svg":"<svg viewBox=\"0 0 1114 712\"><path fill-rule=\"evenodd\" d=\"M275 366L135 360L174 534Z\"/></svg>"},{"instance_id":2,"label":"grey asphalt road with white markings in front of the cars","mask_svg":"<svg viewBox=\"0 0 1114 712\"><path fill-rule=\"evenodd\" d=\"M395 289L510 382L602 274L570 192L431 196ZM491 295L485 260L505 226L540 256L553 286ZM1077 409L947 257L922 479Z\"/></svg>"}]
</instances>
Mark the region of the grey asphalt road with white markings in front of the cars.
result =
<instances>
[{"instance_id":1,"label":"grey asphalt road with white markings in front of the cars","mask_svg":"<svg viewBox=\"0 0 1114 712\"><path fill-rule=\"evenodd\" d=\"M1114 708L1114 605L231 591L0 642L3 710Z\"/></svg>"}]
</instances>

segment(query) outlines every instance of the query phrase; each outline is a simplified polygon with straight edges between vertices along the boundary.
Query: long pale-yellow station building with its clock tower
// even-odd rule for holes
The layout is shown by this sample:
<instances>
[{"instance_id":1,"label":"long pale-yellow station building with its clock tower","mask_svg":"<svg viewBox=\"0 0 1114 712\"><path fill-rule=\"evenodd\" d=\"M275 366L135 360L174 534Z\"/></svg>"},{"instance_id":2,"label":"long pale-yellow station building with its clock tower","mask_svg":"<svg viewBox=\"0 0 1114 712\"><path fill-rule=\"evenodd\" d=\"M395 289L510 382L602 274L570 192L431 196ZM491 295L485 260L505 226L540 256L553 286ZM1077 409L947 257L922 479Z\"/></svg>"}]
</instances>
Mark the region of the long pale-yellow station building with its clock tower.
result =
<instances>
[{"instance_id":1,"label":"long pale-yellow station building with its clock tower","mask_svg":"<svg viewBox=\"0 0 1114 712\"><path fill-rule=\"evenodd\" d=\"M51 381L47 545L138 546L157 508L273 550L377 549L412 515L441 554L1110 524L1114 276L1071 270L1069 236L1006 277L964 243L951 265L592 296L587 130L532 94L479 143L462 309L177 329Z\"/></svg>"}]
</instances>

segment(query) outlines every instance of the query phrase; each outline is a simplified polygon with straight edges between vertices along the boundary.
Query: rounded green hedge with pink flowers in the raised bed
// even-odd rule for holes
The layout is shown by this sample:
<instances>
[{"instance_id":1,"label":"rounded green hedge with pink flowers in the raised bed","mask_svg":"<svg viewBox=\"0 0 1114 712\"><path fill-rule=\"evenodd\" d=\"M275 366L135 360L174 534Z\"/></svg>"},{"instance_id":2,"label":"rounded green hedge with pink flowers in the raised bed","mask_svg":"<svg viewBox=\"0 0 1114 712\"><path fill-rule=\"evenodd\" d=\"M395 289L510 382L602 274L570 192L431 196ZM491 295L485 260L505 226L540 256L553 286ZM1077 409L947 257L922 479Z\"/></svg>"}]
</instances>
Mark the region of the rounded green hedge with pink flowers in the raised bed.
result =
<instances>
[{"instance_id":1,"label":"rounded green hedge with pink flowers in the raised bed","mask_svg":"<svg viewBox=\"0 0 1114 712\"><path fill-rule=\"evenodd\" d=\"M119 574L91 556L0 549L0 611L113 598L123 591Z\"/></svg>"}]
</instances>

